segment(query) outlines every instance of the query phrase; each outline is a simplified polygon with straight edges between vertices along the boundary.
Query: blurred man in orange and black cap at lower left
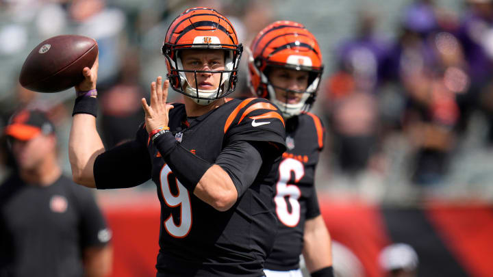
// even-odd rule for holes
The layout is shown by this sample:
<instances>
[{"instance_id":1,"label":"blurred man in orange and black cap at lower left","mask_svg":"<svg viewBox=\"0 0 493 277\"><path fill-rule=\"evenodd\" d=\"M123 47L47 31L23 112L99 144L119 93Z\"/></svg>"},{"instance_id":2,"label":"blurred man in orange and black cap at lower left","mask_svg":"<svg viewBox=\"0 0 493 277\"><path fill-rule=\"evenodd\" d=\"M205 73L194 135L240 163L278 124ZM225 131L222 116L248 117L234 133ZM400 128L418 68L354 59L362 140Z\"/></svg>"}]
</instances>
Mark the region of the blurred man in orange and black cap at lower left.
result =
<instances>
[{"instance_id":1,"label":"blurred man in orange and black cap at lower left","mask_svg":"<svg viewBox=\"0 0 493 277\"><path fill-rule=\"evenodd\" d=\"M62 175L53 124L23 109L4 135L17 170L0 185L0 276L108 276L111 232L92 193Z\"/></svg>"}]
</instances>

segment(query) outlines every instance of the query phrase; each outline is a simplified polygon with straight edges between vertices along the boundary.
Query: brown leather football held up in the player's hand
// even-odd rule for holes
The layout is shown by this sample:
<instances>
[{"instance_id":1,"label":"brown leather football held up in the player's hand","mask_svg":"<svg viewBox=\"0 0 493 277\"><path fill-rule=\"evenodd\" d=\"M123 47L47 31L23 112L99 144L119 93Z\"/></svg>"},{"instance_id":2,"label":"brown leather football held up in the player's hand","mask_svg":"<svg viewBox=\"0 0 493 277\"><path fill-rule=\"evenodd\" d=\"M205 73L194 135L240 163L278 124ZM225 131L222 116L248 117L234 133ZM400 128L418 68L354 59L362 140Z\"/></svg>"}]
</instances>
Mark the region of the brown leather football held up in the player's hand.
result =
<instances>
[{"instance_id":1,"label":"brown leather football held up in the player's hand","mask_svg":"<svg viewBox=\"0 0 493 277\"><path fill-rule=\"evenodd\" d=\"M84 80L82 69L91 68L98 54L96 40L64 35L49 38L27 56L19 82L35 92L61 92Z\"/></svg>"}]
</instances>

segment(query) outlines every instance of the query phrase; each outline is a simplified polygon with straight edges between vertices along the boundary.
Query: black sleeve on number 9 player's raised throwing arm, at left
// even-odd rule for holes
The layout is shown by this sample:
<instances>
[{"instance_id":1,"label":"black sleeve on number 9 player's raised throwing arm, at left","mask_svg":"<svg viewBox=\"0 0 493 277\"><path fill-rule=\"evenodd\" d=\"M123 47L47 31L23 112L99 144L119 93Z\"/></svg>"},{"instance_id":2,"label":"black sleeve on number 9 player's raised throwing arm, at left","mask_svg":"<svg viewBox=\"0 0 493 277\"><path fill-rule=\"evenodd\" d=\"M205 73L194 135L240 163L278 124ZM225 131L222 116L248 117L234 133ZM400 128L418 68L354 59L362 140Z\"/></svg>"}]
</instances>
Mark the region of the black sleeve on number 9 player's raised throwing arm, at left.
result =
<instances>
[{"instance_id":1,"label":"black sleeve on number 9 player's raised throwing arm, at left","mask_svg":"<svg viewBox=\"0 0 493 277\"><path fill-rule=\"evenodd\" d=\"M135 187L151 179L151 159L147 148L136 140L116 146L94 161L94 181L98 189Z\"/></svg>"}]
</instances>

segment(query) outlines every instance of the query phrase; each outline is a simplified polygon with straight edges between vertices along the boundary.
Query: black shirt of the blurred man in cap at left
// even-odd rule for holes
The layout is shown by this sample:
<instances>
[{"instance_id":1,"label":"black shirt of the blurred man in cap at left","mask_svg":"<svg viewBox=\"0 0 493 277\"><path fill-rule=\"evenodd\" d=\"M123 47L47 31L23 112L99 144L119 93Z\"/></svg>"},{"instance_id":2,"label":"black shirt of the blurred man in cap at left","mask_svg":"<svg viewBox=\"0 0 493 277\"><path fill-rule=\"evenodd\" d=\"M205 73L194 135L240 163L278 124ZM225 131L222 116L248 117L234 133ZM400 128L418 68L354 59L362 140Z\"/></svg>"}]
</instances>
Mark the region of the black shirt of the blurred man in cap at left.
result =
<instances>
[{"instance_id":1,"label":"black shirt of the blurred man in cap at left","mask_svg":"<svg viewBox=\"0 0 493 277\"><path fill-rule=\"evenodd\" d=\"M84 276L82 252L110 231L90 189L62 176L47 187L0 185L0 276Z\"/></svg>"}]
</instances>

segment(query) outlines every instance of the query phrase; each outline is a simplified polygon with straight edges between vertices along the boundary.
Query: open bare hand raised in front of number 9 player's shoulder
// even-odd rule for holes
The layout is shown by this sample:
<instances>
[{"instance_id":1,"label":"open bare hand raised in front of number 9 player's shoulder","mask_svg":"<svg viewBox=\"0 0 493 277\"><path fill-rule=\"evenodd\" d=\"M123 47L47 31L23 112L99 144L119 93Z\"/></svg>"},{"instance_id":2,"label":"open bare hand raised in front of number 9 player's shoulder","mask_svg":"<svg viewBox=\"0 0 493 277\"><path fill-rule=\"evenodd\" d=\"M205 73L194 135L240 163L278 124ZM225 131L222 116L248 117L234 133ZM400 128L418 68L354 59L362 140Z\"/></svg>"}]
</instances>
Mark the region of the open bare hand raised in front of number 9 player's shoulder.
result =
<instances>
[{"instance_id":1,"label":"open bare hand raised in front of number 9 player's shoulder","mask_svg":"<svg viewBox=\"0 0 493 277\"><path fill-rule=\"evenodd\" d=\"M146 129L148 133L159 128L168 126L168 113L173 109L173 105L167 104L169 81L162 81L162 77L157 77L151 83L151 105L147 105L145 98L142 98L142 108L145 112Z\"/></svg>"}]
</instances>

